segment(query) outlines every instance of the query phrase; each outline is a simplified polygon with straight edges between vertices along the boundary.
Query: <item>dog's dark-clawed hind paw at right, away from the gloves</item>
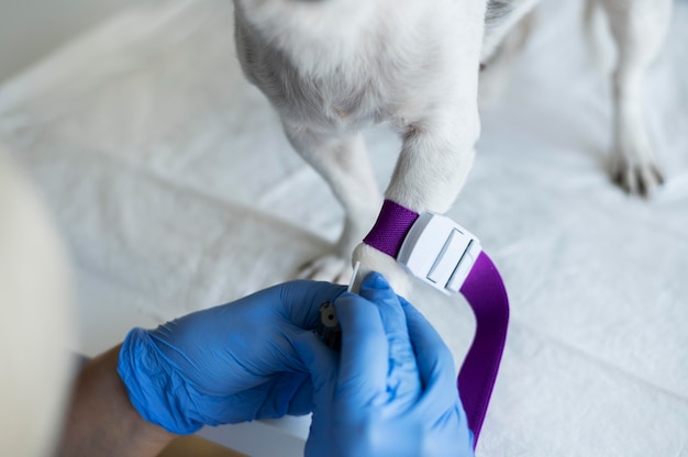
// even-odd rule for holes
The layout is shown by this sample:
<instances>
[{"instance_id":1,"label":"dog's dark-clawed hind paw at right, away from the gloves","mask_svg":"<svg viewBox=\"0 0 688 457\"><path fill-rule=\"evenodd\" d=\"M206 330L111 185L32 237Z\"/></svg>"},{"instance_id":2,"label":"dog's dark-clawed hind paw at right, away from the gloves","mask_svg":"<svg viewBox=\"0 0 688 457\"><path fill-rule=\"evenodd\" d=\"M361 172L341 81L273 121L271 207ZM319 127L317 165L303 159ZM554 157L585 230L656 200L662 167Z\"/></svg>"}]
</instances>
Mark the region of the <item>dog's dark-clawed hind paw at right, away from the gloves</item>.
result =
<instances>
[{"instance_id":1,"label":"dog's dark-clawed hind paw at right, away from the gloves","mask_svg":"<svg viewBox=\"0 0 688 457\"><path fill-rule=\"evenodd\" d=\"M610 175L626 193L644 198L664 183L664 177L654 160L632 159L626 154L614 154Z\"/></svg>"}]
</instances>

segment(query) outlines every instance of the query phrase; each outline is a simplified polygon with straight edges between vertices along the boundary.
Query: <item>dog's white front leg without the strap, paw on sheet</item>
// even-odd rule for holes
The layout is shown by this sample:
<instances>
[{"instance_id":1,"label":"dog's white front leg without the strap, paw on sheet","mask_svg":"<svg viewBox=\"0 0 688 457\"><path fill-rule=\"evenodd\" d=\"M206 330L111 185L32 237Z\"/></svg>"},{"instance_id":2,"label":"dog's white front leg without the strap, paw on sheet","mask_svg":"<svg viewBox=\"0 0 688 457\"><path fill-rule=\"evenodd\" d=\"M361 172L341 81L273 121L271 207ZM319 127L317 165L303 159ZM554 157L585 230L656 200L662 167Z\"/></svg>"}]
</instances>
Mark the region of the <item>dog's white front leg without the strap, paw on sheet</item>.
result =
<instances>
[{"instance_id":1,"label":"dog's white front leg without the strap, paw on sheet","mask_svg":"<svg viewBox=\"0 0 688 457\"><path fill-rule=\"evenodd\" d=\"M288 122L285 132L293 148L328 181L345 212L335 253L306 264L299 276L348 282L351 254L375 222L381 205L363 136L337 138Z\"/></svg>"}]
</instances>

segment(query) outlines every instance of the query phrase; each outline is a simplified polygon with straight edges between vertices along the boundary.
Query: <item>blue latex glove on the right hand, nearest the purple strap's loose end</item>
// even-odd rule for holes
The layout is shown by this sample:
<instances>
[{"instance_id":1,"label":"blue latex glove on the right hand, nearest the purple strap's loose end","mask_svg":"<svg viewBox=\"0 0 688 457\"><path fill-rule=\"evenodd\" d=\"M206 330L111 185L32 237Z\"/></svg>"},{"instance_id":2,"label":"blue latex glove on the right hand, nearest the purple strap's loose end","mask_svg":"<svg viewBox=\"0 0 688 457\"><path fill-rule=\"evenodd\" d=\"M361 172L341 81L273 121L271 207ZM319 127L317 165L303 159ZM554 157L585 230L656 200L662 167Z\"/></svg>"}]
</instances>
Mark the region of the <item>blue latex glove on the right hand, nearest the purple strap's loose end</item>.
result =
<instances>
[{"instance_id":1,"label":"blue latex glove on the right hand, nearest the purple strap's loose end","mask_svg":"<svg viewBox=\"0 0 688 457\"><path fill-rule=\"evenodd\" d=\"M296 347L313 379L307 456L473 456L450 349L379 274L334 303L336 353L312 334Z\"/></svg>"}]
</instances>

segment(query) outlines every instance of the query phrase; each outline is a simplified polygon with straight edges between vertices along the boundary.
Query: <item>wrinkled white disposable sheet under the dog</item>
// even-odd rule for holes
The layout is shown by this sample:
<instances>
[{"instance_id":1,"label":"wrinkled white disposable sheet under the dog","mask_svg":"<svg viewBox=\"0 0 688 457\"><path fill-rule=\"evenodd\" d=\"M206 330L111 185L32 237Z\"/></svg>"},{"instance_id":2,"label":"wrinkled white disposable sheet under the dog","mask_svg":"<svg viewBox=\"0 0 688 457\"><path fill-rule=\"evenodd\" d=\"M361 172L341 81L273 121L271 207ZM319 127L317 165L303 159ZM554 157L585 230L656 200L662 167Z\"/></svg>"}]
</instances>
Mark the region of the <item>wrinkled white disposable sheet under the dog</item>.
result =
<instances>
[{"instance_id":1,"label":"wrinkled white disposable sheet under the dog","mask_svg":"<svg viewBox=\"0 0 688 457\"><path fill-rule=\"evenodd\" d=\"M451 215L500 267L512 302L482 456L688 456L688 4L648 76L667 186L628 198L602 171L607 79L578 4L545 1ZM80 343L286 280L342 212L241 76L231 2L148 1L0 88L0 137L62 227ZM368 134L380 180L398 141ZM471 317L413 300L460 361Z\"/></svg>"}]
</instances>

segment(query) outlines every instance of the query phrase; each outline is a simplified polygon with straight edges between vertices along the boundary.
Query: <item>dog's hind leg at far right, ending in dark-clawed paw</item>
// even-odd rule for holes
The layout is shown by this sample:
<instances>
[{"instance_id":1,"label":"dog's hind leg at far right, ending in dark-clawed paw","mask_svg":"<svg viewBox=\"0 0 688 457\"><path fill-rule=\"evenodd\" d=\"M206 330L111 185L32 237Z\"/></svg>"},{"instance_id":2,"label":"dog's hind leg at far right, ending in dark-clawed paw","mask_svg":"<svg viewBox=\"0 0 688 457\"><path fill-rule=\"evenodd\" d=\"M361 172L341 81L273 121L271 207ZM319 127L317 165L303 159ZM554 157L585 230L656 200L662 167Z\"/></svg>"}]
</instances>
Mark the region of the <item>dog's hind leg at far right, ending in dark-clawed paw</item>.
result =
<instances>
[{"instance_id":1,"label":"dog's hind leg at far right, ending in dark-clawed paw","mask_svg":"<svg viewBox=\"0 0 688 457\"><path fill-rule=\"evenodd\" d=\"M643 120L643 85L666 36L672 0L600 0L618 48L613 74L614 141L611 176L646 197L663 182Z\"/></svg>"}]
</instances>

